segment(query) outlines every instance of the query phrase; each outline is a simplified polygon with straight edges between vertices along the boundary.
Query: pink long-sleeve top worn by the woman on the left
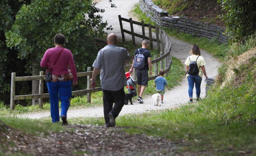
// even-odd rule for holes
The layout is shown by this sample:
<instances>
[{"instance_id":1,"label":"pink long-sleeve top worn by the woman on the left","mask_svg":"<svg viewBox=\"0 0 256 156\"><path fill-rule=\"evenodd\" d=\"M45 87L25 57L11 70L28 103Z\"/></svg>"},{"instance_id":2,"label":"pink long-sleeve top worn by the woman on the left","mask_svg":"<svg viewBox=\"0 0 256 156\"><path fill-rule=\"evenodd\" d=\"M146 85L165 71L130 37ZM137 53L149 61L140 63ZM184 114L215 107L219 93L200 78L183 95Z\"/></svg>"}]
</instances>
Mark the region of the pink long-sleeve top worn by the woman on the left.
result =
<instances>
[{"instance_id":1,"label":"pink long-sleeve top worn by the woman on the left","mask_svg":"<svg viewBox=\"0 0 256 156\"><path fill-rule=\"evenodd\" d=\"M60 55L63 47L54 47L48 49L43 56L42 61L40 62L40 66L42 68L52 67L53 63ZM68 66L71 70L73 81L77 81L76 67L73 59L73 55L70 50L63 50L59 60L55 63L54 67L52 67L52 74L62 75L69 73Z\"/></svg>"}]
</instances>

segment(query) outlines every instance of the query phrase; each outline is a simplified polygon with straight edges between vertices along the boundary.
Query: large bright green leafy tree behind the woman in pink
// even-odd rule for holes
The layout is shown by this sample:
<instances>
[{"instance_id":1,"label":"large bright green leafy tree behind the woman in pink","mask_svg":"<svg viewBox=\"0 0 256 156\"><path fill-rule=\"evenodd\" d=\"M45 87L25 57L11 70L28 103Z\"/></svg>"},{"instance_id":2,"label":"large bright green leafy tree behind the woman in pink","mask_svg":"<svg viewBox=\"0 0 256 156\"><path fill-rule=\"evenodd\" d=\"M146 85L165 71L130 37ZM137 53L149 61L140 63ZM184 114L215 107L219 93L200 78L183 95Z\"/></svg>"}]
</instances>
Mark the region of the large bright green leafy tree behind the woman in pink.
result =
<instances>
[{"instance_id":1,"label":"large bright green leafy tree behind the woman in pink","mask_svg":"<svg viewBox=\"0 0 256 156\"><path fill-rule=\"evenodd\" d=\"M95 14L104 10L95 5L91 0L42 0L24 4L12 29L5 33L6 45L19 51L19 59L26 60L26 73L38 75L43 70L40 61L44 52L54 46L54 35L62 33L78 71L85 71L96 56L94 39L102 36L107 27L107 22ZM32 94L37 94L38 83L33 83Z\"/></svg>"}]
</instances>

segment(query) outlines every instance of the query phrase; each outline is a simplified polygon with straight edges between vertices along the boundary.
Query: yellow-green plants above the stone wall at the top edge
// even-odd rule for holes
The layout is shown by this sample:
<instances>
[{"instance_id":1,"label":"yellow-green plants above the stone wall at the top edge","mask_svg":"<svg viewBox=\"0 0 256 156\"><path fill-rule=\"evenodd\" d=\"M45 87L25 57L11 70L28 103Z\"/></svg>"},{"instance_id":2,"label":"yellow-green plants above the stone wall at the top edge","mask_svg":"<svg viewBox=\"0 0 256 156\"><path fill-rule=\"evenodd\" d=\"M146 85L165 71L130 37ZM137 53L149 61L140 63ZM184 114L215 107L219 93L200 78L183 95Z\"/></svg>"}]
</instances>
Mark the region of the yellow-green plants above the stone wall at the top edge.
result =
<instances>
[{"instance_id":1,"label":"yellow-green plants above the stone wall at the top edge","mask_svg":"<svg viewBox=\"0 0 256 156\"><path fill-rule=\"evenodd\" d=\"M188 7L193 1L187 0L152 0L156 5L166 10L168 14L174 14Z\"/></svg>"}]
</instances>

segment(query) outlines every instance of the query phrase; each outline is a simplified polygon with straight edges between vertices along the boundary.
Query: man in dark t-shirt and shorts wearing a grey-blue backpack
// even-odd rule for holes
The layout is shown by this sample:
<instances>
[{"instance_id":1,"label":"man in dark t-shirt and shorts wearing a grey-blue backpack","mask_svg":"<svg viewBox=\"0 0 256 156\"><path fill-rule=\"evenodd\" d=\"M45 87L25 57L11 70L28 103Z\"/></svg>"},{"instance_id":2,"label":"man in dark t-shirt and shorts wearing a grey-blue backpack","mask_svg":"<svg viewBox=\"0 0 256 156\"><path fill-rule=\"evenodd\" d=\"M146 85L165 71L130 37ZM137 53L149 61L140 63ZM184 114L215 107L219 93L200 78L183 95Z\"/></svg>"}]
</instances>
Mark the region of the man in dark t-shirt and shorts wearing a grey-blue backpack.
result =
<instances>
[{"instance_id":1,"label":"man in dark t-shirt and shorts wearing a grey-blue backpack","mask_svg":"<svg viewBox=\"0 0 256 156\"><path fill-rule=\"evenodd\" d=\"M137 91L138 91L138 102L143 103L142 94L146 88L148 81L148 70L149 76L152 75L152 64L150 60L150 52L147 50L149 44L147 39L142 41L142 48L136 49L134 54L133 65L129 72L133 72L133 68L136 68L137 76Z\"/></svg>"}]
</instances>

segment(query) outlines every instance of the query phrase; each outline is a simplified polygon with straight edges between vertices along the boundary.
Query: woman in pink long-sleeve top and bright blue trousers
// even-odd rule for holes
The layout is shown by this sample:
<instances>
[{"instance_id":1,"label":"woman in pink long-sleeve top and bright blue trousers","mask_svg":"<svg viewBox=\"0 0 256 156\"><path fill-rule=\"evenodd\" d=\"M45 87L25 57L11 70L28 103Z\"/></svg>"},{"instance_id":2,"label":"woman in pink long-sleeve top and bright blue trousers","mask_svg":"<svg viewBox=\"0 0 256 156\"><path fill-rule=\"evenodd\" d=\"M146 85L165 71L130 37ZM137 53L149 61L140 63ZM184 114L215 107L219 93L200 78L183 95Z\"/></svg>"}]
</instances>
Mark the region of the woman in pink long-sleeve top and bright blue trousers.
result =
<instances>
[{"instance_id":1,"label":"woman in pink long-sleeve top and bright blue trousers","mask_svg":"<svg viewBox=\"0 0 256 156\"><path fill-rule=\"evenodd\" d=\"M50 107L52 122L60 121L59 113L59 96L61 99L61 119L62 124L66 125L67 112L70 105L70 98L72 96L71 90L71 76L68 70L68 66L72 72L73 85L77 85L76 67L73 59L73 55L70 50L63 48L65 43L65 36L62 34L56 34L54 36L54 48L48 49L43 56L40 63L42 68L52 67L51 77L52 81L47 82L47 87L50 95ZM59 57L55 65L56 59Z\"/></svg>"}]
</instances>

